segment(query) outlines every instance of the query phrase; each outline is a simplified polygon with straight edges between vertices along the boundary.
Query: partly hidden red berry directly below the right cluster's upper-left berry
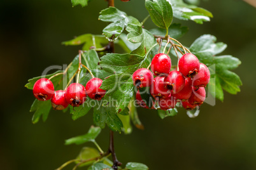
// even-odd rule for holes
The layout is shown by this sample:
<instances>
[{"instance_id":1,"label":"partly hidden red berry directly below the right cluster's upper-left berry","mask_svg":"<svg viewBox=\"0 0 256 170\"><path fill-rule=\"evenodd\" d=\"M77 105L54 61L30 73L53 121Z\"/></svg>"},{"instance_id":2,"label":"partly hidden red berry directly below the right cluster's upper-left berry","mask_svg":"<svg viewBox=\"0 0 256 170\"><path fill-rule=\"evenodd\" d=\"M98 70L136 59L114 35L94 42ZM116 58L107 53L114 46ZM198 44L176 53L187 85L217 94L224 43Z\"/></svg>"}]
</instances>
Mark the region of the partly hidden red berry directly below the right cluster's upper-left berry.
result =
<instances>
[{"instance_id":1,"label":"partly hidden red berry directly below the right cluster's upper-left berry","mask_svg":"<svg viewBox=\"0 0 256 170\"><path fill-rule=\"evenodd\" d=\"M171 91L166 89L165 86L166 84L164 83L164 78L163 76L158 76L153 79L153 84L150 87L150 93L153 96L153 98L167 98Z\"/></svg>"}]
</instances>

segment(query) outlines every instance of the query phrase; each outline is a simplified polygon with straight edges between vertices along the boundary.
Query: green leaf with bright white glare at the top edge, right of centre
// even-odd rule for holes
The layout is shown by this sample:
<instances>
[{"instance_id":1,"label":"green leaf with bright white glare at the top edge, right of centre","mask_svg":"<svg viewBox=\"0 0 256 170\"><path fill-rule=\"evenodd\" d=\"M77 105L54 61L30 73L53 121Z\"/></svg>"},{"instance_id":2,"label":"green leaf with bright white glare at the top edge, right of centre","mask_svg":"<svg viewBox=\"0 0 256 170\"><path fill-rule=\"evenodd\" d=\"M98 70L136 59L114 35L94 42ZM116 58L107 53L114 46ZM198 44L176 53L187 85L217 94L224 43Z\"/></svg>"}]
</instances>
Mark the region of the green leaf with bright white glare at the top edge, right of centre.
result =
<instances>
[{"instance_id":1,"label":"green leaf with bright white glare at the top edge, right of centre","mask_svg":"<svg viewBox=\"0 0 256 170\"><path fill-rule=\"evenodd\" d=\"M183 0L167 0L173 8L173 16L180 20L192 20L196 23L210 21L213 15L208 10L186 4Z\"/></svg>"}]
</instances>

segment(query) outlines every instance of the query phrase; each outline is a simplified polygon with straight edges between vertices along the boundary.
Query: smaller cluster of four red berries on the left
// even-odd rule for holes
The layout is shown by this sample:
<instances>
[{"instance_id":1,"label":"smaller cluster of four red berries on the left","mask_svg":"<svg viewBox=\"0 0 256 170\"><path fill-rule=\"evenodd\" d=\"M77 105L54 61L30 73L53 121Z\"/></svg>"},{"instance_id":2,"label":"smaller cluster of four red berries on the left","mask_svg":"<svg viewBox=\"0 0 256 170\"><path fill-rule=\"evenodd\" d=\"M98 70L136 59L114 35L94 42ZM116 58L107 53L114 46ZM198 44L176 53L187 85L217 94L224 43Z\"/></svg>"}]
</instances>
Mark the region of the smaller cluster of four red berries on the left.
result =
<instances>
[{"instance_id":1,"label":"smaller cluster of four red berries on the left","mask_svg":"<svg viewBox=\"0 0 256 170\"><path fill-rule=\"evenodd\" d=\"M92 78L86 86L74 82L65 90L54 91L52 81L42 78L35 82L33 94L38 100L51 100L53 109L63 110L68 105L79 107L85 102L87 96L93 100L101 100L106 93L106 90L99 88L102 82L99 78Z\"/></svg>"}]
</instances>

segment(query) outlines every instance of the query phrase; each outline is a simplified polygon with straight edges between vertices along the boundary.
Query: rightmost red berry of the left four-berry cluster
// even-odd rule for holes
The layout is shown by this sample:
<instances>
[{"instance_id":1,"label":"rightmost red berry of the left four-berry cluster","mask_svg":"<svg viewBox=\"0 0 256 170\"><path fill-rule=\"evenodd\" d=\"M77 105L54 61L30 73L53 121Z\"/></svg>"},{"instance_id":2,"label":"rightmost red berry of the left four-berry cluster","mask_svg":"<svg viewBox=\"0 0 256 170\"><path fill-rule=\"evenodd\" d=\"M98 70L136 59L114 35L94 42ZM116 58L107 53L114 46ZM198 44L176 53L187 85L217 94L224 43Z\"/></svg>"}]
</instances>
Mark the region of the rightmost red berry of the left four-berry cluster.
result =
<instances>
[{"instance_id":1,"label":"rightmost red berry of the left four-berry cluster","mask_svg":"<svg viewBox=\"0 0 256 170\"><path fill-rule=\"evenodd\" d=\"M101 100L106 94L106 90L101 89L103 81L99 78L90 79L85 86L87 95L93 100Z\"/></svg>"}]
</instances>

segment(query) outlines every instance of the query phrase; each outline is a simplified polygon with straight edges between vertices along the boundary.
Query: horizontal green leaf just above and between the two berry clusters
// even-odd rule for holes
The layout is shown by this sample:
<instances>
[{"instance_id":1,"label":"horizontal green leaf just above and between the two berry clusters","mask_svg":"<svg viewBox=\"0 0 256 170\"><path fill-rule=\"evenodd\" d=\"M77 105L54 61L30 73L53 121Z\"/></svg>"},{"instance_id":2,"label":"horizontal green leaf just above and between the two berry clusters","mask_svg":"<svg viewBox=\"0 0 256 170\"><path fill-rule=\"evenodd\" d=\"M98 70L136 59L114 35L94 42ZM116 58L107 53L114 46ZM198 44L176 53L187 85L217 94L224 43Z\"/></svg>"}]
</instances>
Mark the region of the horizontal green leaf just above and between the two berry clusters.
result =
<instances>
[{"instance_id":1,"label":"horizontal green leaf just above and between the two berry clusters","mask_svg":"<svg viewBox=\"0 0 256 170\"><path fill-rule=\"evenodd\" d=\"M139 67L145 68L149 65L148 60L145 60L143 56L117 53L102 56L99 63L103 70L112 74L133 74Z\"/></svg>"}]
</instances>

